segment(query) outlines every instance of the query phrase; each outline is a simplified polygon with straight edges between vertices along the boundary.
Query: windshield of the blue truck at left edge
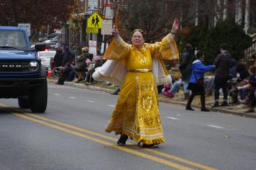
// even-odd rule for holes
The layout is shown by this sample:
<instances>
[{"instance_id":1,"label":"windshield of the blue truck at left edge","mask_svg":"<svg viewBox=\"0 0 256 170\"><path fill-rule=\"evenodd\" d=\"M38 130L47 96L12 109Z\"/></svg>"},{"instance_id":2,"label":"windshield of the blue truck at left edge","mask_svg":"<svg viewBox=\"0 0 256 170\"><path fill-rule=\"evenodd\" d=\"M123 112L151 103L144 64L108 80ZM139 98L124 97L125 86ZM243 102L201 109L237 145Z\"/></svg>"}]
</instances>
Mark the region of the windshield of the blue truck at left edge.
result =
<instances>
[{"instance_id":1,"label":"windshield of the blue truck at left edge","mask_svg":"<svg viewBox=\"0 0 256 170\"><path fill-rule=\"evenodd\" d=\"M1 47L14 47L20 50L29 50L23 31L1 30L0 48Z\"/></svg>"}]
</instances>

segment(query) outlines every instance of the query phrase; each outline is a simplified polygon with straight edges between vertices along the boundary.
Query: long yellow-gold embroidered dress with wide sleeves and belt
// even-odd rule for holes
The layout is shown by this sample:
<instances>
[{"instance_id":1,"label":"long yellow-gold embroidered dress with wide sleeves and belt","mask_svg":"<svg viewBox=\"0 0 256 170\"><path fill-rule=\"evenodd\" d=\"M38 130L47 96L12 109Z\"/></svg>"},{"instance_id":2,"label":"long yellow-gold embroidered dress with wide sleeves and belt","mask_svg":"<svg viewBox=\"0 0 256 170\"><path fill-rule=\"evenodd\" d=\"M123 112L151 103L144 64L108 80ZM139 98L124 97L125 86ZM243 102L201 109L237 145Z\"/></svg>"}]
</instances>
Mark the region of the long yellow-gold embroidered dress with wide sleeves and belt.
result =
<instances>
[{"instance_id":1,"label":"long yellow-gold embroidered dress with wide sleeves and belt","mask_svg":"<svg viewBox=\"0 0 256 170\"><path fill-rule=\"evenodd\" d=\"M113 39L103 58L125 60L127 74L106 132L125 134L143 144L164 142L152 58L172 60L178 58L177 54L176 42L171 34L165 36L162 42L145 43L140 48L127 44L120 36Z\"/></svg>"}]
</instances>

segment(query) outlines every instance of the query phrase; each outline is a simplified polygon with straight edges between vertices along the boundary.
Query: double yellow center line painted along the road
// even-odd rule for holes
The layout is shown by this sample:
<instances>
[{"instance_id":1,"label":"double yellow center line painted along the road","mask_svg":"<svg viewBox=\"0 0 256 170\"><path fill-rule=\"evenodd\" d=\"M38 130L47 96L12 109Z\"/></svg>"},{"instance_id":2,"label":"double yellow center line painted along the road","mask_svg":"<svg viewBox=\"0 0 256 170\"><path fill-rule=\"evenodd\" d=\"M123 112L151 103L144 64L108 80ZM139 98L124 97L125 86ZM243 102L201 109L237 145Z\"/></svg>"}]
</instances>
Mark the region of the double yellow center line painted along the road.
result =
<instances>
[{"instance_id":1,"label":"double yellow center line painted along the road","mask_svg":"<svg viewBox=\"0 0 256 170\"><path fill-rule=\"evenodd\" d=\"M2 107L7 107L7 105L1 104L1 103L0 103L0 106L2 106ZM93 141L95 141L95 142L99 142L99 143L101 143L101 144L105 144L105 145L108 145L108 146L110 146L110 147L114 147L114 148L116 148L116 149L118 149L118 150L123 150L123 151L125 151L125 152L130 152L130 153L132 153L132 154L134 154L134 155L139 155L139 156L141 156L141 157L143 157L143 158L148 158L148 159L151 159L151 160L153 160L153 161L157 161L157 162L159 162L159 163L164 163L165 165L172 166L172 167L174 167L174 168L176 168L176 169L190 169L190 168L188 168L188 167L186 167L186 166L181 166L181 165L179 165L179 164L177 164L177 163L173 163L173 162L170 162L170 161L166 161L166 160L164 160L164 159L162 159L162 158L157 158L157 157L148 155L148 154L143 153L143 152L138 152L138 151L135 151L135 150L131 150L131 149L127 148L127 147L119 147L119 146L116 145L116 144L112 144L112 143L110 143L110 142L105 142L105 141L102 141L102 140L100 140L100 139L96 139L96 138L94 138L94 137L87 136L86 134L91 134L91 135L94 135L94 136L99 136L99 137L101 137L101 138L103 138L103 139L109 139L109 140L111 140L111 141L116 142L116 139L115 139L115 138L112 138L112 137L110 137L110 136L105 136L105 135L103 135L103 134L95 133L95 132L93 132L93 131L89 131L89 130L86 130L86 129L83 129L83 128L78 128L78 127L76 127L76 126L69 125L69 124L67 124L67 123L61 123L61 122L58 122L58 121L56 121L56 120L50 120L50 119L48 119L48 118L45 118L45 117L42 117L42 116L38 116L38 115L33 115L33 114L30 114L30 113L23 113L23 114L15 113L15 112L13 112L12 110L7 109L7 108L6 108L5 110L7 110L7 112L12 112L13 115L16 115L16 116L18 116L18 117L23 117L23 118L25 118L25 119L27 119L27 120L31 120L31 121L34 121L34 122L37 122L37 123L40 123L40 124L43 124L43 125L50 126L50 127L52 127L52 128L59 129L60 131L64 131L64 132L66 132L66 133L68 133L68 134L73 134L73 135L80 136L80 137L83 137L83 138L86 138L86 139L90 139L90 140L93 140ZM17 112L20 112L20 111L17 110ZM32 118L32 117L35 117L35 118L37 118L37 119L39 119L39 120L34 119L34 118ZM44 122L44 121L41 121L41 120L45 120L45 121L48 121L48 122L50 122L50 123L55 123L56 125L53 125L53 124L50 124L50 123L47 123L47 122ZM72 131L72 130L69 130L69 129L67 129L67 128L62 128L62 127L60 127L60 126L58 126L58 125L61 125L61 126L67 127L67 128L71 128L71 129L74 129L74 130L76 130L76 131L81 131L81 132L86 133L86 134L80 134L79 132ZM140 147L137 147L137 148L140 148ZM148 152L154 152L154 153L157 154L157 155L162 155L163 157L171 158L171 159L176 160L176 161L179 161L179 162L181 162L181 163L187 163L187 164L189 164L189 165L191 165L191 166L195 166L195 167L200 168L200 169L217 170L217 169L211 168L210 166L205 166L205 165L202 165L202 164L200 164L200 163L195 163L195 162L189 161L189 160L184 159L184 158L178 158L178 157L176 157L176 156L174 156L174 155L170 155L170 154L167 154L167 153L165 153L165 152L159 152L159 151L157 151L157 150L151 150L151 149L141 149L141 150L146 150L146 151L148 151Z\"/></svg>"}]
</instances>

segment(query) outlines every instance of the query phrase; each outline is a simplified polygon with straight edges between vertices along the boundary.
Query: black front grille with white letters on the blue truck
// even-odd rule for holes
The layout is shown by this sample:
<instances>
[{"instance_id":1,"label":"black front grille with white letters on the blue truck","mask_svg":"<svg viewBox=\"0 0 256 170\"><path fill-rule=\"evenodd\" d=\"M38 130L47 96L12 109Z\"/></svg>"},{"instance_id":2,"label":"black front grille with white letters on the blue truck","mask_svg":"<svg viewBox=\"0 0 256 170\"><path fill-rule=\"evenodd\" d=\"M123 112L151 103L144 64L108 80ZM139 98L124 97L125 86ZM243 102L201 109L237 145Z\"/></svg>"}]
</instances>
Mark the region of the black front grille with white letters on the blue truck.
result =
<instances>
[{"instance_id":1,"label":"black front grille with white letters on the blue truck","mask_svg":"<svg viewBox=\"0 0 256 170\"><path fill-rule=\"evenodd\" d=\"M29 73L30 61L0 61L0 73Z\"/></svg>"}]
</instances>

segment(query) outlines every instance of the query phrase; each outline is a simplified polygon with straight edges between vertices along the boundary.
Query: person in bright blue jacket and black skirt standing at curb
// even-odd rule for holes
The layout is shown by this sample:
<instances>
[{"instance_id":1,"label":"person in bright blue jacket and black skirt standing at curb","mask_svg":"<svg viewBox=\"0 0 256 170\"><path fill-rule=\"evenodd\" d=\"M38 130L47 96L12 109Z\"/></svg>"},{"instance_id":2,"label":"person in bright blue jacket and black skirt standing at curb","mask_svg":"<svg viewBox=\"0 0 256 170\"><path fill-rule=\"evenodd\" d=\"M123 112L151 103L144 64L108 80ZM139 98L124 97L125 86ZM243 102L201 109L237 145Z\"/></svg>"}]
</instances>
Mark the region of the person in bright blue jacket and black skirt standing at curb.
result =
<instances>
[{"instance_id":1,"label":"person in bright blue jacket and black skirt standing at curb","mask_svg":"<svg viewBox=\"0 0 256 170\"><path fill-rule=\"evenodd\" d=\"M200 95L201 99L201 111L208 112L209 110L206 109L206 97L205 97L205 90L203 86L203 79L204 73L211 71L215 68L214 65L205 66L203 64L203 52L198 50L196 54L196 59L192 63L192 72L189 78L189 86L188 89L192 91L191 95L189 96L189 100L187 101L187 110L194 110L191 107L192 101L196 95Z\"/></svg>"}]
</instances>

